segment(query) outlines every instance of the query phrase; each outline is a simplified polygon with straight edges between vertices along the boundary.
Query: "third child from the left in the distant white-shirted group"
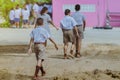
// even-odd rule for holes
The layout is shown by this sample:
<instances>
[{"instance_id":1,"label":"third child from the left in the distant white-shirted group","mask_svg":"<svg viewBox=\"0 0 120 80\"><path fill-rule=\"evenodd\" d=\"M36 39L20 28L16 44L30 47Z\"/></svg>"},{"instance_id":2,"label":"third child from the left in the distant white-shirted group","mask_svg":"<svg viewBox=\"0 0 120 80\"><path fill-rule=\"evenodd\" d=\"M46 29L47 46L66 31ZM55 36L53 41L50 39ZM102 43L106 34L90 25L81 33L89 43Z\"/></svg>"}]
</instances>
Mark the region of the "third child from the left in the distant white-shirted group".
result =
<instances>
[{"instance_id":1,"label":"third child from the left in the distant white-shirted group","mask_svg":"<svg viewBox=\"0 0 120 80\"><path fill-rule=\"evenodd\" d=\"M30 17L30 11L27 10L26 6L24 6L24 9L22 10L23 28L28 28L29 17Z\"/></svg>"}]
</instances>

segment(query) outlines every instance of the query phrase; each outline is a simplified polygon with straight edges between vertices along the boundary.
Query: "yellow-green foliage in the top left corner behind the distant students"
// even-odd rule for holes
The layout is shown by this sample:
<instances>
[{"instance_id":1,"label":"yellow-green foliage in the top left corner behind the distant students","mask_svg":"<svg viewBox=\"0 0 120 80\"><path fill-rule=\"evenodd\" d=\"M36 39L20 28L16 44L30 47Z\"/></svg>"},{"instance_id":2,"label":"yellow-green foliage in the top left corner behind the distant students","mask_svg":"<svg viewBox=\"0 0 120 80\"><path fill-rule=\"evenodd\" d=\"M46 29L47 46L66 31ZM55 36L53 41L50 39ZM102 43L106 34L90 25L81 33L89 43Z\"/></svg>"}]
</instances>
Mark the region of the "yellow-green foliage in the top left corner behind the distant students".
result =
<instances>
[{"instance_id":1,"label":"yellow-green foliage in the top left corner behind the distant students","mask_svg":"<svg viewBox=\"0 0 120 80\"><path fill-rule=\"evenodd\" d=\"M5 22L0 24L0 27L9 27L9 12L11 10L11 8L14 8L17 4L20 4L20 6L23 6L23 3L25 2L51 2L51 0L21 0L16 1L16 2L12 2L11 0L0 0L0 14L1 16L5 19Z\"/></svg>"}]
</instances>

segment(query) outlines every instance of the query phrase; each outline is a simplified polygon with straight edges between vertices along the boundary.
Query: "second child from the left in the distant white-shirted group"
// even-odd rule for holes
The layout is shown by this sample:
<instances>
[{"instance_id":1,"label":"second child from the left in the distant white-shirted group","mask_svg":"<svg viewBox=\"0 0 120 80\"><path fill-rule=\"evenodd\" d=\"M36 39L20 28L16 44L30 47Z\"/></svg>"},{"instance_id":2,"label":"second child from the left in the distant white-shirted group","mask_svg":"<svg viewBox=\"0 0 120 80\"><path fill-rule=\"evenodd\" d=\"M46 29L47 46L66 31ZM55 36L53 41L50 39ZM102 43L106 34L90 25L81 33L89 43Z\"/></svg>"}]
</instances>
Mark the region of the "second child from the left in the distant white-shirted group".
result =
<instances>
[{"instance_id":1,"label":"second child from the left in the distant white-shirted group","mask_svg":"<svg viewBox=\"0 0 120 80\"><path fill-rule=\"evenodd\" d=\"M19 23L20 23L20 16L21 16L21 9L19 8L19 5L16 6L16 9L15 9L15 25L16 25L16 28L19 28Z\"/></svg>"}]
</instances>

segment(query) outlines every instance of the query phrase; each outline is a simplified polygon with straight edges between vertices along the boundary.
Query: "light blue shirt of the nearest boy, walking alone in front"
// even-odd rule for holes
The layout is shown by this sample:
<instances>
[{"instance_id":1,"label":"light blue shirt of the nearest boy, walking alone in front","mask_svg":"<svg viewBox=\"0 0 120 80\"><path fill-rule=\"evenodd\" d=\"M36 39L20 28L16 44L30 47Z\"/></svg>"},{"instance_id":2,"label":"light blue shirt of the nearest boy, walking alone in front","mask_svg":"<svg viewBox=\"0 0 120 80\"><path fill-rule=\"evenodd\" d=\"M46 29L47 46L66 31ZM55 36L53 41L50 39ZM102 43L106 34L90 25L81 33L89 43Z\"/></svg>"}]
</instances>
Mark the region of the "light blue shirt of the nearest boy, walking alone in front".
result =
<instances>
[{"instance_id":1,"label":"light blue shirt of the nearest boy, walking alone in front","mask_svg":"<svg viewBox=\"0 0 120 80\"><path fill-rule=\"evenodd\" d=\"M43 26L39 26L32 30L30 34L31 38L34 39L35 42L45 42L48 38L50 38L50 34L47 30L43 28Z\"/></svg>"}]
</instances>

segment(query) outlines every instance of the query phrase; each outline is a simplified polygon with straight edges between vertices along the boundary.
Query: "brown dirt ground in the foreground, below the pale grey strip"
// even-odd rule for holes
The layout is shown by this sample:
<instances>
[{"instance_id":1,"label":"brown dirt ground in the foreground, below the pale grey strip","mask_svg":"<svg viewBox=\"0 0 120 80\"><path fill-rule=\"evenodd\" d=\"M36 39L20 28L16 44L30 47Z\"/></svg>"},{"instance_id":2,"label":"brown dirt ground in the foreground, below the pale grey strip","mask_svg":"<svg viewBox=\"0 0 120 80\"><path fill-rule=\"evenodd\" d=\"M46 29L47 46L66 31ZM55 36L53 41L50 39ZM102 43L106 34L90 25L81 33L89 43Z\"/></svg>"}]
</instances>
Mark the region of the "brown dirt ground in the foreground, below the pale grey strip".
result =
<instances>
[{"instance_id":1,"label":"brown dirt ground in the foreground, below the pale grey strip","mask_svg":"<svg viewBox=\"0 0 120 80\"><path fill-rule=\"evenodd\" d=\"M0 80L32 80L36 60L26 52L26 45L0 46ZM58 51L49 45L46 53L47 74L40 80L120 80L120 45L83 45L81 58L67 60L62 45Z\"/></svg>"}]
</instances>

